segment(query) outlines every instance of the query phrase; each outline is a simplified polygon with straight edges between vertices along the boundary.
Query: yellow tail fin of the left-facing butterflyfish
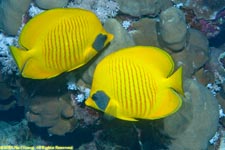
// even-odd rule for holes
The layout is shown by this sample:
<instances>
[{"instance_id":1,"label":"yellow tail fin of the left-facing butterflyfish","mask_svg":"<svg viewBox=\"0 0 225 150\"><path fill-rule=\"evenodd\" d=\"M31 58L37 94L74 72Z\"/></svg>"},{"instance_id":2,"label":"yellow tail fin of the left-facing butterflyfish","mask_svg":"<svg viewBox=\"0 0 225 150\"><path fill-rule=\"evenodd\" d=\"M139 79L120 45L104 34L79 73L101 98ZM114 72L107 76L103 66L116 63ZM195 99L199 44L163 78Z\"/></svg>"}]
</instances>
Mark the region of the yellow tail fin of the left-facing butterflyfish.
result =
<instances>
[{"instance_id":1,"label":"yellow tail fin of the left-facing butterflyfish","mask_svg":"<svg viewBox=\"0 0 225 150\"><path fill-rule=\"evenodd\" d=\"M178 93L184 95L182 72L183 72L183 68L179 67L177 71L174 72L168 79L169 79L169 82L170 82L169 85L171 86L171 88L177 91Z\"/></svg>"}]
</instances>

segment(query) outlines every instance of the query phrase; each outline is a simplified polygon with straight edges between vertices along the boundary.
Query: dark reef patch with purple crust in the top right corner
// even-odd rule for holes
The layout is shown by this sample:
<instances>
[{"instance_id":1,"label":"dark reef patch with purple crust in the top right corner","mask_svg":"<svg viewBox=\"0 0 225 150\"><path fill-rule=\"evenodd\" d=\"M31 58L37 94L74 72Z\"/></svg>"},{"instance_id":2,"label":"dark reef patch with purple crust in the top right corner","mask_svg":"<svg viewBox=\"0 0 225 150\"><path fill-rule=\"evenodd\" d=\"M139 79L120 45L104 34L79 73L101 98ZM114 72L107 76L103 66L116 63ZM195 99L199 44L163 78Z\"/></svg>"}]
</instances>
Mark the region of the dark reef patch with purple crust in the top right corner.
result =
<instances>
[{"instance_id":1,"label":"dark reef patch with purple crust in the top right corner","mask_svg":"<svg viewBox=\"0 0 225 150\"><path fill-rule=\"evenodd\" d=\"M202 31L208 38L213 38L223 30L225 20L224 6L218 6L220 8L213 11L207 6L207 2L199 0L185 3L181 9L186 14L190 27Z\"/></svg>"}]
</instances>

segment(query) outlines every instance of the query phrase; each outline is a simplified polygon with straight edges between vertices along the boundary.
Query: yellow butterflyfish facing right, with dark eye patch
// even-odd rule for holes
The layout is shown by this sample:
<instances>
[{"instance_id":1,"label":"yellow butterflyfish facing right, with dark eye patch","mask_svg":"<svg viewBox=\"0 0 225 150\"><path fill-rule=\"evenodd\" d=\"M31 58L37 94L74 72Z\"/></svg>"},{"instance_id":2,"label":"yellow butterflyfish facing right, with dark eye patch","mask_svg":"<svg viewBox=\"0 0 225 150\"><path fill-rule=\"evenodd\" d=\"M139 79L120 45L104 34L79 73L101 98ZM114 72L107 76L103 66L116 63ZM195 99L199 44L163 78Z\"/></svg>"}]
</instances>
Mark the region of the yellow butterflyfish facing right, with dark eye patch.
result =
<instances>
[{"instance_id":1,"label":"yellow butterflyfish facing right, with dark eye patch","mask_svg":"<svg viewBox=\"0 0 225 150\"><path fill-rule=\"evenodd\" d=\"M23 77L45 79L83 66L112 39L94 13L57 8L32 18L21 31L20 48L10 50Z\"/></svg>"}]
</instances>

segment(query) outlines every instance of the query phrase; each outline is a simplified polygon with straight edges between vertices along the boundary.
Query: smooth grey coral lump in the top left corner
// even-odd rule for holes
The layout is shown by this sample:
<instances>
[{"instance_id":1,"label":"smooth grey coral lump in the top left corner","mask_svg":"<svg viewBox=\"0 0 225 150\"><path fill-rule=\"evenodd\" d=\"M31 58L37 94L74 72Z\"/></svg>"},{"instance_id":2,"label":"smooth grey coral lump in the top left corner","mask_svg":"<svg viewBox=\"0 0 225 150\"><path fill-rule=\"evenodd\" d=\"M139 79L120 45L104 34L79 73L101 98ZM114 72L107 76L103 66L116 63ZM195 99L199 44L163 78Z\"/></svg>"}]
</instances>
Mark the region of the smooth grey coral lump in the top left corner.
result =
<instances>
[{"instance_id":1,"label":"smooth grey coral lump in the top left corner","mask_svg":"<svg viewBox=\"0 0 225 150\"><path fill-rule=\"evenodd\" d=\"M1 0L0 30L9 35L16 35L22 24L22 16L27 11L31 0Z\"/></svg>"}]
</instances>

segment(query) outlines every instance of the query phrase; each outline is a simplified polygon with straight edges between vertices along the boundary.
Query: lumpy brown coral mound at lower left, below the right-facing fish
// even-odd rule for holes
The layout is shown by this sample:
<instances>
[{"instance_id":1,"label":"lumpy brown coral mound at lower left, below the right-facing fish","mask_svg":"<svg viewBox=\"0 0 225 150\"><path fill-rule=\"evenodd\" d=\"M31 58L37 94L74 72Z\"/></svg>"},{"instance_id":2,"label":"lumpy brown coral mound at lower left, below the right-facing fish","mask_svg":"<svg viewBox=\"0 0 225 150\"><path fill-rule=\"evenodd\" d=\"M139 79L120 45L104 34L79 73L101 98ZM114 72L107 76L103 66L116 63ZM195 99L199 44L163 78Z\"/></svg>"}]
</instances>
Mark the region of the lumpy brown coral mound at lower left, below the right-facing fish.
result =
<instances>
[{"instance_id":1,"label":"lumpy brown coral mound at lower left, below the right-facing fish","mask_svg":"<svg viewBox=\"0 0 225 150\"><path fill-rule=\"evenodd\" d=\"M99 117L98 113L82 108L78 95L36 96L30 99L26 118L39 127L47 127L50 135L65 135L78 127L94 124Z\"/></svg>"}]
</instances>

